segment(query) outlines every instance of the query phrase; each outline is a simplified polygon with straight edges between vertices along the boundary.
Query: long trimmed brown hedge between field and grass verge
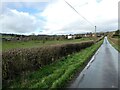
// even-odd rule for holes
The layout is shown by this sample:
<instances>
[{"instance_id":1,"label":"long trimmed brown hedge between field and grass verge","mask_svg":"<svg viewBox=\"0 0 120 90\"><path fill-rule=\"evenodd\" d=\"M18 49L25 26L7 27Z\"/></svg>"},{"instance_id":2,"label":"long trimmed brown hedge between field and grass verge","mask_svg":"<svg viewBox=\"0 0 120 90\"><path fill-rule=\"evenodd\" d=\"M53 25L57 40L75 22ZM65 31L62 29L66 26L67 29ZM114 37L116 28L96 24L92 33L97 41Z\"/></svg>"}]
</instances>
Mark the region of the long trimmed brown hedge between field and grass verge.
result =
<instances>
[{"instance_id":1,"label":"long trimmed brown hedge between field and grass verge","mask_svg":"<svg viewBox=\"0 0 120 90\"><path fill-rule=\"evenodd\" d=\"M52 45L41 48L14 49L2 53L3 81L11 80L17 75L36 70L68 54L78 52L91 46L93 41Z\"/></svg>"}]
</instances>

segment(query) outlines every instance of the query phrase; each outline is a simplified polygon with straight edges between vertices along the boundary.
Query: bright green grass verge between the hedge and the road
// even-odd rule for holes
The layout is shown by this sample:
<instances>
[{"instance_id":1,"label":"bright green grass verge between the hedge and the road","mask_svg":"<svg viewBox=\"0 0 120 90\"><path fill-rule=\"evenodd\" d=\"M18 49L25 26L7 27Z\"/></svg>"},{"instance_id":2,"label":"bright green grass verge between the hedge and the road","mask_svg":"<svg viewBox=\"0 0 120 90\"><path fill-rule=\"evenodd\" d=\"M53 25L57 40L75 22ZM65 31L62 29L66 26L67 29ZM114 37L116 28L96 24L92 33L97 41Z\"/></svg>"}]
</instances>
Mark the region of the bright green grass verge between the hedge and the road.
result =
<instances>
[{"instance_id":1,"label":"bright green grass verge between the hedge and the road","mask_svg":"<svg viewBox=\"0 0 120 90\"><path fill-rule=\"evenodd\" d=\"M29 72L18 77L8 85L10 88L58 88L64 87L75 74L84 66L84 62L90 59L94 52L100 47L103 40L78 53L68 55L51 65ZM4 86L6 87L6 86Z\"/></svg>"}]
</instances>

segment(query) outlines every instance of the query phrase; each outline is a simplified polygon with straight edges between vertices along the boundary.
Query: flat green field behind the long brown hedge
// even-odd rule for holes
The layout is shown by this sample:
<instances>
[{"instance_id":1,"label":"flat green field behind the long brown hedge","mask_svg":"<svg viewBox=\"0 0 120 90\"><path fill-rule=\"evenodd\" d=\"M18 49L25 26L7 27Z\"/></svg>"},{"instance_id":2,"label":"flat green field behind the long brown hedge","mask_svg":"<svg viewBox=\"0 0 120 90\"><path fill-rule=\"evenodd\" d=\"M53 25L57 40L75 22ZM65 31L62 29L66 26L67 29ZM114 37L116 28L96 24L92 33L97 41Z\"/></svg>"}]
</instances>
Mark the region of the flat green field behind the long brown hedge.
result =
<instances>
[{"instance_id":1,"label":"flat green field behind the long brown hedge","mask_svg":"<svg viewBox=\"0 0 120 90\"><path fill-rule=\"evenodd\" d=\"M32 48L32 47L41 47L46 45L53 45L53 44L63 44L63 43L73 43L73 42L81 42L91 40L92 38L81 38L81 39L74 39L74 40L52 40L52 41L3 41L2 42L2 51L7 51L10 49L15 48Z\"/></svg>"}]
</instances>

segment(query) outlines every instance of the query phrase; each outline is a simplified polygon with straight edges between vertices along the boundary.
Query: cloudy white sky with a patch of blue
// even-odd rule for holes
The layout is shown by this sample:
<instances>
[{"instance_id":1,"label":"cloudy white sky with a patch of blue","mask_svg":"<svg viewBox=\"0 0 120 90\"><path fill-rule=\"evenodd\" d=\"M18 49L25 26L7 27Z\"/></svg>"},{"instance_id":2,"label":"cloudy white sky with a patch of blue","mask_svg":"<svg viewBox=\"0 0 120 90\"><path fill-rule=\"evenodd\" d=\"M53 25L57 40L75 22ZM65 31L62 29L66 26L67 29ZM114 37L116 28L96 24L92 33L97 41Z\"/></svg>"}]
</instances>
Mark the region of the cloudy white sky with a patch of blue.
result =
<instances>
[{"instance_id":1,"label":"cloudy white sky with a patch of blue","mask_svg":"<svg viewBox=\"0 0 120 90\"><path fill-rule=\"evenodd\" d=\"M0 33L54 35L94 32L94 26L97 32L118 29L119 0L66 1L81 16L64 0L2 2Z\"/></svg>"}]
</instances>

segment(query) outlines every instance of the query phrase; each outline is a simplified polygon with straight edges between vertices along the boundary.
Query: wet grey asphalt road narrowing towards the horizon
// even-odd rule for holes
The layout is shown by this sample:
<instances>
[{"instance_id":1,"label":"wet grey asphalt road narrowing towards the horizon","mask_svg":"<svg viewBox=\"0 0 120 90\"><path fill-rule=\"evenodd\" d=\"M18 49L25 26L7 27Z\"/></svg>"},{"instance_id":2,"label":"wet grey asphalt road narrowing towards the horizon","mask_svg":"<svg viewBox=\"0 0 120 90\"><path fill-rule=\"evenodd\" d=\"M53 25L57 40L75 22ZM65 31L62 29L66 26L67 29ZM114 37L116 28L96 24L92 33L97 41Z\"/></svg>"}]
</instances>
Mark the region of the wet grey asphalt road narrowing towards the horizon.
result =
<instances>
[{"instance_id":1,"label":"wet grey asphalt road narrowing towards the horizon","mask_svg":"<svg viewBox=\"0 0 120 90\"><path fill-rule=\"evenodd\" d=\"M118 51L105 37L101 47L70 88L118 88L118 82Z\"/></svg>"}]
</instances>

